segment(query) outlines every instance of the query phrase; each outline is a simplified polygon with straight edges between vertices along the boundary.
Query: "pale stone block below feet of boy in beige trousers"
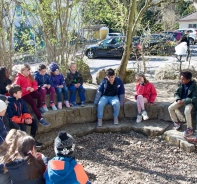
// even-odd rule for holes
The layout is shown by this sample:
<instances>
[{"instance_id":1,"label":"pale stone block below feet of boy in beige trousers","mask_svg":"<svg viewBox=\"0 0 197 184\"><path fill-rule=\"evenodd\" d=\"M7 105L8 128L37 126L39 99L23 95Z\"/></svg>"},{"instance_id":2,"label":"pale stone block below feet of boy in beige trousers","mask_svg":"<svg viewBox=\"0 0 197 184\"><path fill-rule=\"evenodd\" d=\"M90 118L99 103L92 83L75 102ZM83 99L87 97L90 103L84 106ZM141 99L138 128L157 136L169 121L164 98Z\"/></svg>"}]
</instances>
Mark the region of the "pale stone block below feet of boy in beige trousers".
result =
<instances>
[{"instance_id":1,"label":"pale stone block below feet of boy in beige trousers","mask_svg":"<svg viewBox=\"0 0 197 184\"><path fill-rule=\"evenodd\" d=\"M164 133L164 139L166 142L173 146L177 146L187 152L193 152L195 145L188 143L183 136L183 132L177 130L168 130Z\"/></svg>"}]
</instances>

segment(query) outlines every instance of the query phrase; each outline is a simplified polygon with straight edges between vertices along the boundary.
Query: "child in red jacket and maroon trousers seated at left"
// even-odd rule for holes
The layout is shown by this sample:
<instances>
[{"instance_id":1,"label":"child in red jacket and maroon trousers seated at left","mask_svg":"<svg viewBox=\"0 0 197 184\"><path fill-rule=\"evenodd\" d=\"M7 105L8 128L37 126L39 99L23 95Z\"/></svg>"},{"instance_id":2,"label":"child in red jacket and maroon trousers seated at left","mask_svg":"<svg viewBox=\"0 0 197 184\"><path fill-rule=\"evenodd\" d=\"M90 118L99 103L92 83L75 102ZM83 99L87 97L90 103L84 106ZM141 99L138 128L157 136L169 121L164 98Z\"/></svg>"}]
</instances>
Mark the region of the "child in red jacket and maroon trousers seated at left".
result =
<instances>
[{"instance_id":1,"label":"child in red jacket and maroon trousers seated at left","mask_svg":"<svg viewBox=\"0 0 197 184\"><path fill-rule=\"evenodd\" d=\"M45 112L42 107L43 100L41 94L37 91L38 84L31 75L30 70L31 68L28 64L23 64L14 83L22 88L22 99L32 107L39 123L43 126L49 126L50 124L41 115L41 113ZM37 104L34 99L37 100Z\"/></svg>"}]
</instances>

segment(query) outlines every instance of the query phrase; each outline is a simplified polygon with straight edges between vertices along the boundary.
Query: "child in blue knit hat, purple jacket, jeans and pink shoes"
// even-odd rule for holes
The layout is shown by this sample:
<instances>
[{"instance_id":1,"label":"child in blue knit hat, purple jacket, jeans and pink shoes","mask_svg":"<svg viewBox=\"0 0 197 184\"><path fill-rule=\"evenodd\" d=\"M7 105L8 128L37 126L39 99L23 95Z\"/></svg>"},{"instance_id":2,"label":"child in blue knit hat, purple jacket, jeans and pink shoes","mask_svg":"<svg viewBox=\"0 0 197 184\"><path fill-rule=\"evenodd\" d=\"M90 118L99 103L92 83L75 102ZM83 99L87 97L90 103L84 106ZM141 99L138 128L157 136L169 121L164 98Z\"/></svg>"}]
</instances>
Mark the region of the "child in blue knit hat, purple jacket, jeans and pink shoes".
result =
<instances>
[{"instance_id":1,"label":"child in blue knit hat, purple jacket, jeans and pink shoes","mask_svg":"<svg viewBox=\"0 0 197 184\"><path fill-rule=\"evenodd\" d=\"M51 79L53 82L53 86L55 88L57 94L57 101L58 101L58 109L62 109L62 93L64 94L64 104L66 107L70 107L68 101L68 88L64 81L64 76L59 72L59 66L52 62L49 65L49 69L51 72Z\"/></svg>"}]
</instances>

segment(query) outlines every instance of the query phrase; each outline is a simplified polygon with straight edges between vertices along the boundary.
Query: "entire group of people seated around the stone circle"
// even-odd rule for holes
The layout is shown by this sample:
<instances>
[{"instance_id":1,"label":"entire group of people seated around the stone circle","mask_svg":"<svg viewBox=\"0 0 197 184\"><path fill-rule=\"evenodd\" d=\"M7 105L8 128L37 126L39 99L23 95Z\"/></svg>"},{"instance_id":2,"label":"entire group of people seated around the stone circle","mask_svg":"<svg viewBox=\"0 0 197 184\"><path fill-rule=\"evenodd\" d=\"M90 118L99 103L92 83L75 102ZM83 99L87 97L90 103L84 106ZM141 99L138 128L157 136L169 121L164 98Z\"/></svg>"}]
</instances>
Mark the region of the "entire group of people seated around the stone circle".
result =
<instances>
[{"instance_id":1,"label":"entire group of people seated around the stone circle","mask_svg":"<svg viewBox=\"0 0 197 184\"><path fill-rule=\"evenodd\" d=\"M63 184L67 183L67 181L72 181L68 183L90 183L82 166L78 165L74 160L72 155L73 138L66 132L58 134L55 140L57 157L49 161L45 174L44 171L47 164L44 162L45 157L40 153L36 153L35 147L40 147L42 144L35 141L37 121L30 115L26 103L32 107L34 114L43 126L50 125L41 115L41 113L48 111L45 102L46 94L50 94L50 106L53 110L57 110L54 104L55 92L57 94L58 109L62 109L62 93L64 94L66 107L77 106L75 102L76 91L79 93L81 106L85 105L83 78L77 71L76 64L72 63L70 65L66 78L60 73L56 63L51 63L49 69L50 75L46 73L46 66L41 64L33 77L30 73L30 66L24 64L14 83L5 88L6 85L12 82L9 80L6 68L0 68L0 72L3 71L4 74L4 77L0 75L2 79L0 91L3 93L0 96L0 152L2 153L0 177L5 176L5 172L2 172L5 170L9 172L13 183L33 184L46 182ZM153 105L157 92L154 85L146 79L144 74L136 74L135 79L135 99L138 110L136 123L140 123L142 119L149 119L145 110L145 103ZM70 103L68 101L68 90L70 91ZM7 98L4 95L9 95L9 97ZM113 69L108 69L97 90L94 101L94 104L97 106L98 127L102 126L103 111L107 104L113 106L114 124L119 123L118 115L120 106L124 103L124 98L125 88L122 80L115 75ZM34 101L35 99L37 103ZM193 134L191 110L193 106L197 107L196 82L192 80L192 74L188 71L181 73L181 83L175 92L175 102L168 108L176 130L180 128L181 124L178 122L175 110L181 106L185 106L187 121L187 130L184 132L184 136L188 141L197 143L197 139L188 138ZM24 133L26 132L26 126L31 126L31 136ZM12 130L8 133L9 129ZM16 133L10 135L13 131L16 131ZM20 138L17 138L18 133ZM4 168L3 170L2 167ZM25 173L21 178L17 177L19 171ZM46 181L43 179L43 174Z\"/></svg>"}]
</instances>

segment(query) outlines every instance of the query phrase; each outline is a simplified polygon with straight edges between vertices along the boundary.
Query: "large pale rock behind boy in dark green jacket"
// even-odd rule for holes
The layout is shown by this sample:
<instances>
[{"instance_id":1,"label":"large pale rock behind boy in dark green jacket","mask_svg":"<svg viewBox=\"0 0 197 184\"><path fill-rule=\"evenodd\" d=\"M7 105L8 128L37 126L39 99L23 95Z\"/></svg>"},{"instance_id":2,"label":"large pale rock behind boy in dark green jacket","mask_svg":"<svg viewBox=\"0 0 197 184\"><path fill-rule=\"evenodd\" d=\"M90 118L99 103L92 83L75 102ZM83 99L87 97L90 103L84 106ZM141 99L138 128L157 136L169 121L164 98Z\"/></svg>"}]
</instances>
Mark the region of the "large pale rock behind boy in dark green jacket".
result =
<instances>
[{"instance_id":1,"label":"large pale rock behind boy in dark green jacket","mask_svg":"<svg viewBox=\"0 0 197 184\"><path fill-rule=\"evenodd\" d=\"M164 63L155 70L155 79L156 80L178 79L180 76L179 71L180 71L180 64L178 62ZM188 65L183 64L182 71L190 71L193 77L197 78L197 71L193 66L190 66L190 68L188 69Z\"/></svg>"}]
</instances>

